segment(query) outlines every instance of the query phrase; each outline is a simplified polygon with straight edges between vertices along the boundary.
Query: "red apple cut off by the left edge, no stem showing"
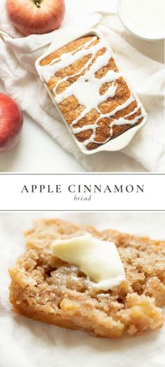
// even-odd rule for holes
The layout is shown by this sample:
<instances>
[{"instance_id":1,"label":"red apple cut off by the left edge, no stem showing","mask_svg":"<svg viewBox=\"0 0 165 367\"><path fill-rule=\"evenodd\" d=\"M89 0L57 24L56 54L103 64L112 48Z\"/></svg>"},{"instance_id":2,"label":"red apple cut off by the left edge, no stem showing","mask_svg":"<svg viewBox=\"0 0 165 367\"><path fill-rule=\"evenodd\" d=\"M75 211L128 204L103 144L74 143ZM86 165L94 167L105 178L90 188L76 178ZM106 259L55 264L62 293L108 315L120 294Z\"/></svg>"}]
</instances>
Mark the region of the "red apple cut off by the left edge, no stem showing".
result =
<instances>
[{"instance_id":1,"label":"red apple cut off by the left edge, no stem showing","mask_svg":"<svg viewBox=\"0 0 165 367\"><path fill-rule=\"evenodd\" d=\"M0 92L0 152L13 148L20 138L23 116L13 99Z\"/></svg>"}]
</instances>

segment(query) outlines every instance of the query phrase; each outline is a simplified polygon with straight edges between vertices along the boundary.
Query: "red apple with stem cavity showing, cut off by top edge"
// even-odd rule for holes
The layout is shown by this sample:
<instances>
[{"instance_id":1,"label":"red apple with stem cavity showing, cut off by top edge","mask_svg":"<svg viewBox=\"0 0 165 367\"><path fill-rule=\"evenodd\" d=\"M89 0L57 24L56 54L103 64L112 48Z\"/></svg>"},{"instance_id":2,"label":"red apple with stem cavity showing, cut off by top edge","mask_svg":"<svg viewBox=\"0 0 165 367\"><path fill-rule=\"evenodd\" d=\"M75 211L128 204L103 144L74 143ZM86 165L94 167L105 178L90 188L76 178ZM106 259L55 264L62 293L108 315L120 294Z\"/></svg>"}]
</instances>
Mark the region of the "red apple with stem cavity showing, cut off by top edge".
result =
<instances>
[{"instance_id":1,"label":"red apple with stem cavity showing, cut off by top edge","mask_svg":"<svg viewBox=\"0 0 165 367\"><path fill-rule=\"evenodd\" d=\"M65 14L64 0L7 0L6 8L12 24L25 36L54 31Z\"/></svg>"}]
</instances>

